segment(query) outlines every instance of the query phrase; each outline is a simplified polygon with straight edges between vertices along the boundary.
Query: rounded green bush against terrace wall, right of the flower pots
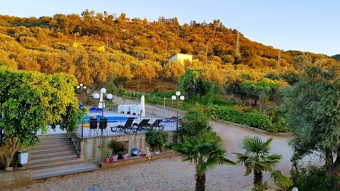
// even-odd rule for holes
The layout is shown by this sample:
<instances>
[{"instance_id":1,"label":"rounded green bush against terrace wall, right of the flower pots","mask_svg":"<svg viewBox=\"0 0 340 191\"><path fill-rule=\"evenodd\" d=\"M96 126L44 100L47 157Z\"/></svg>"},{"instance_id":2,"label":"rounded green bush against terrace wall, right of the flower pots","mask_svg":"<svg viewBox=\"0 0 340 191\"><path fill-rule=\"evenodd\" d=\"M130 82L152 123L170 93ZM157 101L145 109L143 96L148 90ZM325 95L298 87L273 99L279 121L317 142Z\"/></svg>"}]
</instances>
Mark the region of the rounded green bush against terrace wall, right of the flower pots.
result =
<instances>
[{"instance_id":1,"label":"rounded green bush against terrace wall, right of the flower pots","mask_svg":"<svg viewBox=\"0 0 340 191\"><path fill-rule=\"evenodd\" d=\"M156 130L150 127L149 132L147 132L147 144L149 144L154 153L159 154L159 152L163 149L164 144L168 142L169 134L162 130Z\"/></svg>"}]
</instances>

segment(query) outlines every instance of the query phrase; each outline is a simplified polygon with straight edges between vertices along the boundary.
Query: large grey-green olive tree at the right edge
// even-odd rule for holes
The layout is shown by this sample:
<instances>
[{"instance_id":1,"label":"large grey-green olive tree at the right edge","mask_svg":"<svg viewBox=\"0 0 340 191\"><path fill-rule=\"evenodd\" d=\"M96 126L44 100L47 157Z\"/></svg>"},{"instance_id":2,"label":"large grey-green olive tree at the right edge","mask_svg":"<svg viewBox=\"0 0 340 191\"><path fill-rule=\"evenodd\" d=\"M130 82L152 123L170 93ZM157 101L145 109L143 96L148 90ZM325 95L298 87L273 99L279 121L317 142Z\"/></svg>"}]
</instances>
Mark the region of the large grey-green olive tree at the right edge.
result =
<instances>
[{"instance_id":1,"label":"large grey-green olive tree at the right edge","mask_svg":"<svg viewBox=\"0 0 340 191\"><path fill-rule=\"evenodd\" d=\"M296 134L290 142L298 148L295 153L301 158L321 151L329 174L334 163L340 164L339 83L339 69L310 66L284 95L286 124Z\"/></svg>"}]
</instances>

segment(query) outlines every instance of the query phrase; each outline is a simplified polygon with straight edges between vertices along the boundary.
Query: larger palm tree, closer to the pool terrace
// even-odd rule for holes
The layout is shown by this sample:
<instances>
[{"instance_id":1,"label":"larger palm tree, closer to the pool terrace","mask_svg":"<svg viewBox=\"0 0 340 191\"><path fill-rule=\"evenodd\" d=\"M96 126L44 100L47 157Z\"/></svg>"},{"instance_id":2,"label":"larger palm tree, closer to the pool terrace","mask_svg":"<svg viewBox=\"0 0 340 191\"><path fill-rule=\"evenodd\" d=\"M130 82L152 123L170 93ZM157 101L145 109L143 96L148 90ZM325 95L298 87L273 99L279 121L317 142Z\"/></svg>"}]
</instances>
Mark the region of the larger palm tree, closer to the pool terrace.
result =
<instances>
[{"instance_id":1,"label":"larger palm tree, closer to the pool terrace","mask_svg":"<svg viewBox=\"0 0 340 191\"><path fill-rule=\"evenodd\" d=\"M172 148L181 156L182 161L189 161L196 166L196 191L205 190L205 173L217 165L235 165L225 158L225 150L220 137L214 133L200 133L194 137L183 136L183 143Z\"/></svg>"}]
</instances>

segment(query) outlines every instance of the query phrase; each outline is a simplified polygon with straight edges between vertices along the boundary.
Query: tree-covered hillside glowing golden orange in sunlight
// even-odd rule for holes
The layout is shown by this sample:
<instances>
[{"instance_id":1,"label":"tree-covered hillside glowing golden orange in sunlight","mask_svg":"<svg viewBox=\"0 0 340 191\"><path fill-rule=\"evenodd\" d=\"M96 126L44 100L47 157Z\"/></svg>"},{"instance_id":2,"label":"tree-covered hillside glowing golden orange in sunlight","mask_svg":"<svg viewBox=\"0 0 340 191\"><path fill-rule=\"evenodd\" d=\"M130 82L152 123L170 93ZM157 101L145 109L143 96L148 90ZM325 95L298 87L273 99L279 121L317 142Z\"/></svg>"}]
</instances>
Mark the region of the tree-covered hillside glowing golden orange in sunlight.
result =
<instances>
[{"instance_id":1,"label":"tree-covered hillside glowing golden orange in sunlight","mask_svg":"<svg viewBox=\"0 0 340 191\"><path fill-rule=\"evenodd\" d=\"M204 69L205 78L221 84L230 79L230 70L236 76L252 73L256 80L269 71L295 70L294 58L300 55L312 63L322 59L327 65L339 64L322 54L280 51L253 42L218 19L179 25L177 18L147 21L89 10L40 18L0 15L0 40L0 66L47 74L63 71L94 88L108 81L132 88L131 79L137 88L154 79L171 86L189 67ZM176 53L193 55L193 62L169 64Z\"/></svg>"}]
</instances>

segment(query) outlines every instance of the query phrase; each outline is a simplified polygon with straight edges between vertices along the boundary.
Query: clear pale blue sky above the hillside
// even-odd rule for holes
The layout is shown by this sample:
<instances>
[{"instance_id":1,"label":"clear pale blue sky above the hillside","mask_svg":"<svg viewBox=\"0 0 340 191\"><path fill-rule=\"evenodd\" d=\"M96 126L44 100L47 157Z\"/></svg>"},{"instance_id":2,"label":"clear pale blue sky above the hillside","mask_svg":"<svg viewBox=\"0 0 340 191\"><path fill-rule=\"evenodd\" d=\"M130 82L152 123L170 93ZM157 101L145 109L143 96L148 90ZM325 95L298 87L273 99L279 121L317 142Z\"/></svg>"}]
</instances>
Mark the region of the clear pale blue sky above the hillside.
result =
<instances>
[{"instance_id":1,"label":"clear pale blue sky above the hillside","mask_svg":"<svg viewBox=\"0 0 340 191\"><path fill-rule=\"evenodd\" d=\"M181 25L220 19L227 28L239 27L249 40L280 50L340 54L339 0L16 0L2 1L0 14L39 18L56 13L80 15L86 8L151 21L177 17Z\"/></svg>"}]
</instances>

